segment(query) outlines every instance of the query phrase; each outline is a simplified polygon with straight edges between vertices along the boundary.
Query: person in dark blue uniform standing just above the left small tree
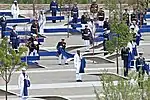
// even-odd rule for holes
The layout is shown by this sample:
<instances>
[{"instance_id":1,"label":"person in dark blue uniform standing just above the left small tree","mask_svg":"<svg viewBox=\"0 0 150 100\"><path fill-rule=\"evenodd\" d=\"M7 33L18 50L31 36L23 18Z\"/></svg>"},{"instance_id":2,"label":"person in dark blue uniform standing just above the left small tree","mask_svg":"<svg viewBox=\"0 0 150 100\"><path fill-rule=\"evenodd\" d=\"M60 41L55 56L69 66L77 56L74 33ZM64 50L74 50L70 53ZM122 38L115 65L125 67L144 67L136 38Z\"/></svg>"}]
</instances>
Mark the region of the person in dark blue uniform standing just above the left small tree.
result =
<instances>
[{"instance_id":1,"label":"person in dark blue uniform standing just above the left small tree","mask_svg":"<svg viewBox=\"0 0 150 100\"><path fill-rule=\"evenodd\" d=\"M20 39L18 37L18 33L16 31L16 26L17 25L13 25L13 29L10 33L10 42L12 43L12 48L17 52L18 47L19 47L19 43L20 43Z\"/></svg>"}]
</instances>

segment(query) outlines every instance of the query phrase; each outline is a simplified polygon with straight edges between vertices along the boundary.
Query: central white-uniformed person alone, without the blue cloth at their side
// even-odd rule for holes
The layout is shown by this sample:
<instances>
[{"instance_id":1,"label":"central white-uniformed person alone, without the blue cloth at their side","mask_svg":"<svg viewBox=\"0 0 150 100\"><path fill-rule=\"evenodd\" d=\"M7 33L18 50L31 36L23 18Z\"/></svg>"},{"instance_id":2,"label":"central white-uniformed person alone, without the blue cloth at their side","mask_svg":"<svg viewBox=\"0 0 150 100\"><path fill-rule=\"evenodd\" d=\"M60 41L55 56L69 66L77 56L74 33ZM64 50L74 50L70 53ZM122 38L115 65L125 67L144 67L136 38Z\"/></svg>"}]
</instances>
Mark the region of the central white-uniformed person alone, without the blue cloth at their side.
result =
<instances>
[{"instance_id":1,"label":"central white-uniformed person alone, without the blue cloth at their side","mask_svg":"<svg viewBox=\"0 0 150 100\"><path fill-rule=\"evenodd\" d=\"M80 54L80 50L77 50L77 53L74 56L74 67L76 68L76 81L77 82L82 82L82 77L80 73L81 59L82 59L82 55Z\"/></svg>"}]
</instances>

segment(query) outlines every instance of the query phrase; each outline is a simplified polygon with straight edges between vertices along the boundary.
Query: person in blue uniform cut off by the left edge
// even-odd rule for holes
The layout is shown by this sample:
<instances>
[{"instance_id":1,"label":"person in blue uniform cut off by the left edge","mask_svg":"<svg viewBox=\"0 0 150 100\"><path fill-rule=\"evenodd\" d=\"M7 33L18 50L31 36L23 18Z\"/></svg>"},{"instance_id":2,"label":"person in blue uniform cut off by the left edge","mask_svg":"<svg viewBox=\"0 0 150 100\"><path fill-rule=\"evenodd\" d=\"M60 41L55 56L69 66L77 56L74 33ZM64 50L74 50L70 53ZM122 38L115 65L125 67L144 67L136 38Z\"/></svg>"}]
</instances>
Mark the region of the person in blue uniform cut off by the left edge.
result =
<instances>
[{"instance_id":1,"label":"person in blue uniform cut off by the left edge","mask_svg":"<svg viewBox=\"0 0 150 100\"><path fill-rule=\"evenodd\" d=\"M3 16L0 18L0 26L2 27L2 30L1 30L1 38L3 38L3 37L5 36L4 31L6 31L6 26L7 26L7 21L6 21L5 15L3 15Z\"/></svg>"}]
</instances>

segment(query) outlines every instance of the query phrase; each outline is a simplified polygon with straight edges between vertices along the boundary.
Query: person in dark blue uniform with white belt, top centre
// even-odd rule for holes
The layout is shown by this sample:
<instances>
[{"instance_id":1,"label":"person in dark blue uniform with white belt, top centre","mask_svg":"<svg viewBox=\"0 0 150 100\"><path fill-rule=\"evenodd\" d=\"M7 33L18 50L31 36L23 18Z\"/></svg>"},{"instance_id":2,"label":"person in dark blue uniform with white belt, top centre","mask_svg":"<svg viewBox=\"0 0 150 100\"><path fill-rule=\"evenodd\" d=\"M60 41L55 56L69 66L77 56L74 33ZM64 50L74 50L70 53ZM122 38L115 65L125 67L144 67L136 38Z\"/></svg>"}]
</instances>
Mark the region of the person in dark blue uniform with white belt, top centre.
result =
<instances>
[{"instance_id":1,"label":"person in dark blue uniform with white belt, top centre","mask_svg":"<svg viewBox=\"0 0 150 100\"><path fill-rule=\"evenodd\" d=\"M71 17L73 17L73 19L72 19L73 25L77 24L78 23L78 17L79 17L79 11L78 11L78 7L77 7L77 3L75 3L71 9ZM76 27L73 27L73 28L76 29Z\"/></svg>"}]
</instances>

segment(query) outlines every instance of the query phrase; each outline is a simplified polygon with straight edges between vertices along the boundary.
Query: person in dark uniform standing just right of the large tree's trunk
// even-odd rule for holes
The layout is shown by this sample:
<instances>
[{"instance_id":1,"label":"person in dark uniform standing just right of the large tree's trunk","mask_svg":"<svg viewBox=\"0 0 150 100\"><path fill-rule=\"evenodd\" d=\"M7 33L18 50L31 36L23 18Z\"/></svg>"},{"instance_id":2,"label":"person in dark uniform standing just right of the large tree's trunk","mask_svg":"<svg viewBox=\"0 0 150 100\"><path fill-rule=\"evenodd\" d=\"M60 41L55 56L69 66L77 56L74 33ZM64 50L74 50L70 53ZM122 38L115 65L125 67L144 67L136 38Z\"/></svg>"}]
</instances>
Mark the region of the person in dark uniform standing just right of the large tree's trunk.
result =
<instances>
[{"instance_id":1,"label":"person in dark uniform standing just right of the large tree's trunk","mask_svg":"<svg viewBox=\"0 0 150 100\"><path fill-rule=\"evenodd\" d=\"M129 69L129 66L128 66L128 57L129 57L129 51L130 49L128 47L123 47L121 49L121 58L123 60L123 67L124 67L124 76L128 76L128 69Z\"/></svg>"}]
</instances>

